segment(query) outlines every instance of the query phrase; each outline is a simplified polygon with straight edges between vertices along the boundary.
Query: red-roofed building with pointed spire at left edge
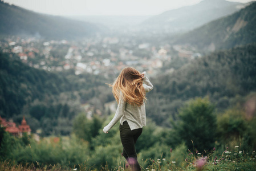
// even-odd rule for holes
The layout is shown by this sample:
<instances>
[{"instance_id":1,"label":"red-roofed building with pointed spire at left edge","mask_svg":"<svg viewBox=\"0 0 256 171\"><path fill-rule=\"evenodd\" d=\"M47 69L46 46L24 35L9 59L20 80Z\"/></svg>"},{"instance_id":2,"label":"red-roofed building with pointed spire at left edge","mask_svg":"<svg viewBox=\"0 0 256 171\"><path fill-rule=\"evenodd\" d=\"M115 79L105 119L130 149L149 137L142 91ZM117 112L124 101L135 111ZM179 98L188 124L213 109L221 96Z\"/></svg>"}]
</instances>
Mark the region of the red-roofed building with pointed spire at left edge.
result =
<instances>
[{"instance_id":1,"label":"red-roofed building with pointed spire at left edge","mask_svg":"<svg viewBox=\"0 0 256 171\"><path fill-rule=\"evenodd\" d=\"M11 135L14 136L22 136L22 133L27 133L30 135L31 129L30 126L27 124L25 117L23 116L21 125L19 125L19 128L16 127L16 124L11 120L11 121L6 121L0 116L0 121L1 121L1 127L5 127L5 131L11 133Z\"/></svg>"}]
</instances>

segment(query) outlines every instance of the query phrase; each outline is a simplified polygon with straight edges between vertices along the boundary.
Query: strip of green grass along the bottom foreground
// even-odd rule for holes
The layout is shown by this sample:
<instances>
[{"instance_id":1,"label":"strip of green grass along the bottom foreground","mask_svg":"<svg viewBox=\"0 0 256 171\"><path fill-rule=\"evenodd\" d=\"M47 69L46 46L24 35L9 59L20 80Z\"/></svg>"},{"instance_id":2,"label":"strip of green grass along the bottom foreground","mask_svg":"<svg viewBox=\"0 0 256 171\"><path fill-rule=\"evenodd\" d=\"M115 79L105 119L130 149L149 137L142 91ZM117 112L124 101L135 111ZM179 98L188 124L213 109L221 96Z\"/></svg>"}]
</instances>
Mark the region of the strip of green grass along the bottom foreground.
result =
<instances>
[{"instance_id":1,"label":"strip of green grass along the bottom foreground","mask_svg":"<svg viewBox=\"0 0 256 171\"><path fill-rule=\"evenodd\" d=\"M254 160L253 160L254 159ZM256 161L255 158L252 158L251 160L246 160L246 161L242 161L242 162L227 162L224 161L222 163L219 163L217 165L215 165L212 162L207 162L205 164L205 166L203 168L197 168L196 165L194 164L188 164L188 166L184 167L184 168L178 168L176 167L176 165L172 162L168 162L168 161L163 161L163 160L151 160L152 164L147 166L147 168L142 168L142 170L147 171L147 170L185 170L185 171L189 171L189 170L232 170L232 171L238 171L238 170L246 170L246 171L253 171L256 169ZM34 164L18 164L18 165L14 165L13 162L11 161L3 161L0 162L0 170L35 170L35 171L41 171L41 170L91 170L91 171L96 171L96 170L100 170L100 171L107 171L108 166L104 166L101 169L95 169L95 168L91 168L90 166L87 166L86 164L79 164L78 168L70 168L67 166L61 166L61 165L44 165L44 166L40 166L38 165L34 165ZM119 165L116 166L115 169L113 169L112 171L117 171L117 170L129 170L129 169L125 169L123 165Z\"/></svg>"}]
</instances>

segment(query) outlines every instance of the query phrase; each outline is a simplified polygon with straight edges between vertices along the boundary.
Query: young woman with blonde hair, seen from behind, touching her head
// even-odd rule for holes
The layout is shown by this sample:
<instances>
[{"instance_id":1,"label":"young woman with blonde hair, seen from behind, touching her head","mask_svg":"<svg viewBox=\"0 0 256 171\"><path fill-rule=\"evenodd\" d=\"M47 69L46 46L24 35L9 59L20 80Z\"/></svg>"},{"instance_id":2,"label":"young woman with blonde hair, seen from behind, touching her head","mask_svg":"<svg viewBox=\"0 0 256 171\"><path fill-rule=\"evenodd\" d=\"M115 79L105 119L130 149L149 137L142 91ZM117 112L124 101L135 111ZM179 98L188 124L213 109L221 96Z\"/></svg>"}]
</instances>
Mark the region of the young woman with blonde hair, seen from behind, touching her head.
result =
<instances>
[{"instance_id":1,"label":"young woman with blonde hair, seen from behind, touching her head","mask_svg":"<svg viewBox=\"0 0 256 171\"><path fill-rule=\"evenodd\" d=\"M141 170L135 144L146 125L145 95L153 89L153 85L149 82L146 72L140 74L135 68L126 67L111 87L118 107L115 116L103 131L108 133L109 129L120 120L123 156L132 170Z\"/></svg>"}]
</instances>

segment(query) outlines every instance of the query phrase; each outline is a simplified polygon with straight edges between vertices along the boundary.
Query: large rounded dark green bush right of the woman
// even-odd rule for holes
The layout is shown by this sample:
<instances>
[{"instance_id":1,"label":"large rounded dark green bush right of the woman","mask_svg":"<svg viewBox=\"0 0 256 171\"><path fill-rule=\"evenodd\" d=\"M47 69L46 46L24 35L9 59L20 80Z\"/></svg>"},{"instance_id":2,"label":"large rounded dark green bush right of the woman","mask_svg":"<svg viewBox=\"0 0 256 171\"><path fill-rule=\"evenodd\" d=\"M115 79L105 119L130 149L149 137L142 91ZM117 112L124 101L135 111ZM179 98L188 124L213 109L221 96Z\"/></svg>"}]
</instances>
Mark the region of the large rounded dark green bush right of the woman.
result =
<instances>
[{"instance_id":1,"label":"large rounded dark green bush right of the woman","mask_svg":"<svg viewBox=\"0 0 256 171\"><path fill-rule=\"evenodd\" d=\"M173 122L173 144L185 142L189 149L199 151L213 148L216 137L214 106L208 98L197 97L188 101L178 113L179 120Z\"/></svg>"}]
</instances>

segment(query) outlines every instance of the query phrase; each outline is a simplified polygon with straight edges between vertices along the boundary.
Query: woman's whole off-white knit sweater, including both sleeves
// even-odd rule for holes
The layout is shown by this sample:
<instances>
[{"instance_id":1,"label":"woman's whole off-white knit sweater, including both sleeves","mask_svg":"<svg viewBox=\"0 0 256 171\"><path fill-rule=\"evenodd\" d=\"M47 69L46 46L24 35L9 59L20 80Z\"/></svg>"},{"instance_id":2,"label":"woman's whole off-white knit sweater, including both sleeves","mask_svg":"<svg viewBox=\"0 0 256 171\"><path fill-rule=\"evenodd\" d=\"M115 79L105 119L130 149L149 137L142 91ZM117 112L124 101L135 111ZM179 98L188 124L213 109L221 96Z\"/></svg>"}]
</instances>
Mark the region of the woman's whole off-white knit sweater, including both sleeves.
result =
<instances>
[{"instance_id":1,"label":"woman's whole off-white knit sweater, including both sleeves","mask_svg":"<svg viewBox=\"0 0 256 171\"><path fill-rule=\"evenodd\" d=\"M144 73L143 78L143 87L145 88L145 92L149 92L153 89L153 85L147 78L146 72ZM104 127L103 131L107 133L120 119L120 124L123 124L124 121L127 121L131 130L143 128L146 125L146 111L145 111L145 101L141 106L131 105L124 101L121 97L119 99L119 104L116 109L115 116L111 120L111 122Z\"/></svg>"}]
</instances>

